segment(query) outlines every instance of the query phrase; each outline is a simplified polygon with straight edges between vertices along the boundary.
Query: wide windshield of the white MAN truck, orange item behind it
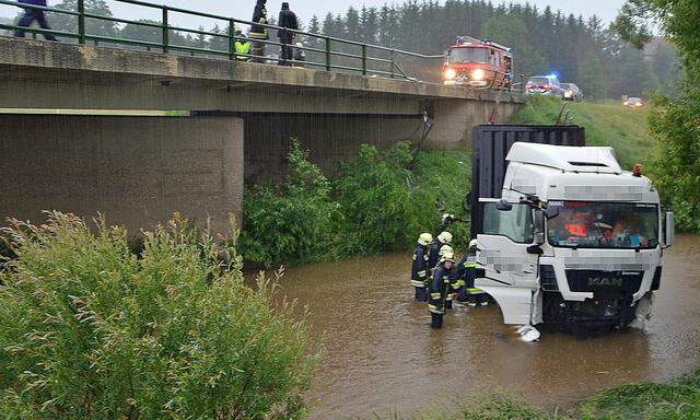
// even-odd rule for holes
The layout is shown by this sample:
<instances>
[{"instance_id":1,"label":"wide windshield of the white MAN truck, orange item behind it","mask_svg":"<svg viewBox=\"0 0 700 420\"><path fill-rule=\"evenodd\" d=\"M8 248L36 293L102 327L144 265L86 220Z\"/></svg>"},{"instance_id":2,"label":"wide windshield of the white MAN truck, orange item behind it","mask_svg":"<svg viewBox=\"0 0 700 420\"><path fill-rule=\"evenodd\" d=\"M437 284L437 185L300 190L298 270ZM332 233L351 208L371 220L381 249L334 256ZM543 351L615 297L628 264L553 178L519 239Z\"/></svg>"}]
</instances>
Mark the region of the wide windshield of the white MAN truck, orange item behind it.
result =
<instances>
[{"instance_id":1,"label":"wide windshield of the white MAN truck, orange item behind it","mask_svg":"<svg viewBox=\"0 0 700 420\"><path fill-rule=\"evenodd\" d=\"M650 203L550 201L559 214L547 222L552 246L581 248L655 248L658 207Z\"/></svg>"}]
</instances>

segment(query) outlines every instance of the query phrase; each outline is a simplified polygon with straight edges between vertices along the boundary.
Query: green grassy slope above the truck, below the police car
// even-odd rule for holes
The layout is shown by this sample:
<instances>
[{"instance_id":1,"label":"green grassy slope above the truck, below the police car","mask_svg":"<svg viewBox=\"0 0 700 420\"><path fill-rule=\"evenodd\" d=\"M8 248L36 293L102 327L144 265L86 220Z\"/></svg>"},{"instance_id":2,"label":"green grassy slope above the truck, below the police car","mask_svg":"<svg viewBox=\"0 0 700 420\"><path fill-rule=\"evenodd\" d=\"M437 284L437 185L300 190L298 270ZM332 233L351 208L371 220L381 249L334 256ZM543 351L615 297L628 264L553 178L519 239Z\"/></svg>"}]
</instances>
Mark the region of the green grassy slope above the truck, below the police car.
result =
<instances>
[{"instance_id":1,"label":"green grassy slope above the truck, below the police car","mask_svg":"<svg viewBox=\"0 0 700 420\"><path fill-rule=\"evenodd\" d=\"M559 100L530 96L511 118L511 124L551 125L562 106ZM650 161L654 141L646 129L649 108L631 109L617 103L565 103L571 124L586 130L587 145L610 145L620 164L630 170L635 163Z\"/></svg>"}]
</instances>

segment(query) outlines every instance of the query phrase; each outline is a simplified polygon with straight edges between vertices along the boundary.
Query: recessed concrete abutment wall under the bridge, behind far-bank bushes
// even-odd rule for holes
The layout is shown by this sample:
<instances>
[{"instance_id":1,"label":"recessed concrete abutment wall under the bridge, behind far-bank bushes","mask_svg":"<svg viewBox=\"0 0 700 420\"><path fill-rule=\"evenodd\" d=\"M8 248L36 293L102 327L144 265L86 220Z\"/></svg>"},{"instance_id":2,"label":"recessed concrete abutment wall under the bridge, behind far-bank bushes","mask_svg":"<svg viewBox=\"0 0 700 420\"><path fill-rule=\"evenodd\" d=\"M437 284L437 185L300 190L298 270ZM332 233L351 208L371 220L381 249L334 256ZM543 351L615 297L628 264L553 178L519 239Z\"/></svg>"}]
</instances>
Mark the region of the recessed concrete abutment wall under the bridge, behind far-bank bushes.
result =
<instances>
[{"instance_id":1,"label":"recessed concrete abutment wall under the bridge, behind far-bank bushes","mask_svg":"<svg viewBox=\"0 0 700 420\"><path fill-rule=\"evenodd\" d=\"M362 143L387 149L410 140L425 149L471 148L471 129L486 124L494 103L479 101L435 101L428 104L433 127L423 138L421 115L334 115L243 113L245 119L246 182L278 180L285 170L291 139L311 151L312 162L326 175L354 158ZM517 104L498 105L497 124L505 124Z\"/></svg>"}]
</instances>

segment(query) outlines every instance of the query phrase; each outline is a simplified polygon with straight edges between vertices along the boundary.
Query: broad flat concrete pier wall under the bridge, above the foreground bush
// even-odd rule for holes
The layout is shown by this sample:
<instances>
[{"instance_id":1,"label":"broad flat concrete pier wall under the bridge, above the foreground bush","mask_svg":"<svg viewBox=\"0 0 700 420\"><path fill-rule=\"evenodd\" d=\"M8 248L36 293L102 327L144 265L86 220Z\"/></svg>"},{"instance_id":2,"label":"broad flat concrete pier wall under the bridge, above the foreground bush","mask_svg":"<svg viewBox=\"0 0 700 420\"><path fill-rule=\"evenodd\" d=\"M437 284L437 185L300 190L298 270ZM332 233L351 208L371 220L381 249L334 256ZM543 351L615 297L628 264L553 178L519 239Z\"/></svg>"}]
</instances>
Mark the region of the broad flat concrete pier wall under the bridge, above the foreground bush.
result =
<instances>
[{"instance_id":1,"label":"broad flat concrete pier wall under the bridge, above the foreground bush","mask_svg":"<svg viewBox=\"0 0 700 420\"><path fill-rule=\"evenodd\" d=\"M231 117L0 115L0 218L42 210L132 233L173 211L228 231L243 196L243 121Z\"/></svg>"}]
</instances>

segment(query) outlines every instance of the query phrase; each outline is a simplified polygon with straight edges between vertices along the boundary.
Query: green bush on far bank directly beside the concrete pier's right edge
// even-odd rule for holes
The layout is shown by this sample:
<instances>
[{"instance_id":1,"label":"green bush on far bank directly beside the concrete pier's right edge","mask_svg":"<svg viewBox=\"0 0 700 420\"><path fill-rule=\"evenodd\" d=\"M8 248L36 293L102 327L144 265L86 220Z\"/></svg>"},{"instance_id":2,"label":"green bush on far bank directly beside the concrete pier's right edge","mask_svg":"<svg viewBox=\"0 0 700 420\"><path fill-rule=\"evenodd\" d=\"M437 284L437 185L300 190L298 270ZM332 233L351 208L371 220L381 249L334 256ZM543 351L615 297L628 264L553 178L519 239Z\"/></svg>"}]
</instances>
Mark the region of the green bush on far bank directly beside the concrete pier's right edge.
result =
<instances>
[{"instance_id":1,"label":"green bush on far bank directly beside the concrete pier's right edge","mask_svg":"<svg viewBox=\"0 0 700 420\"><path fill-rule=\"evenodd\" d=\"M330 183L298 141L288 161L282 185L247 187L244 195L243 256L266 267L332 258L340 213Z\"/></svg>"}]
</instances>

